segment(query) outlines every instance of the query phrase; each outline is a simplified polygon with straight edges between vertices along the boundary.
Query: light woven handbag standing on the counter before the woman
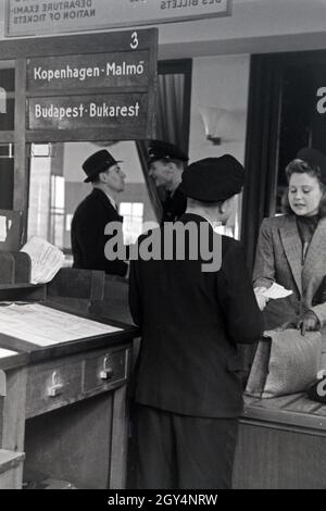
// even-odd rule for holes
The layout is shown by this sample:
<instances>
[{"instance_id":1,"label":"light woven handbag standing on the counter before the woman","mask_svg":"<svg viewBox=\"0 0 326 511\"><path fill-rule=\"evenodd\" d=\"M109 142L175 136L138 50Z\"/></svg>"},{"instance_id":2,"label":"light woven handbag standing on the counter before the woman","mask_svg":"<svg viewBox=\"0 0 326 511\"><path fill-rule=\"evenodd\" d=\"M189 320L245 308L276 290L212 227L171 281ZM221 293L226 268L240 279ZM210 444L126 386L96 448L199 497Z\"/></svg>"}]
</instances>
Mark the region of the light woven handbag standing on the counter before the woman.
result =
<instances>
[{"instance_id":1,"label":"light woven handbag standing on the counter before the woman","mask_svg":"<svg viewBox=\"0 0 326 511\"><path fill-rule=\"evenodd\" d=\"M304 391L315 382L321 360L319 332L267 331L258 342L244 394L274 398Z\"/></svg>"}]
</instances>

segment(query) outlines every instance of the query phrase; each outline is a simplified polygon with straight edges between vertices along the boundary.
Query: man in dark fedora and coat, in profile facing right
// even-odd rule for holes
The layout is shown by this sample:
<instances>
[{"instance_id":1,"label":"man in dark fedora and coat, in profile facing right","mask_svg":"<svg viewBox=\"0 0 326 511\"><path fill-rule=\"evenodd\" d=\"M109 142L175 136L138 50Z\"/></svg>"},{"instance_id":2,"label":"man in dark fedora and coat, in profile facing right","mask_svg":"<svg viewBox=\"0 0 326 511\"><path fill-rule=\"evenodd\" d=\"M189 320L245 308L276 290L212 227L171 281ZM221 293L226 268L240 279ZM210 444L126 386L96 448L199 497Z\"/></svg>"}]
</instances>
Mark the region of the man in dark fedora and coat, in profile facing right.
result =
<instances>
[{"instance_id":1,"label":"man in dark fedora and coat, in profile facing right","mask_svg":"<svg viewBox=\"0 0 326 511\"><path fill-rule=\"evenodd\" d=\"M77 207L72 222L72 250L74 267L103 270L108 274L124 276L127 263L122 260L108 260L104 247L109 239L104 229L110 222L122 223L117 212L116 196L124 190L125 174L121 161L102 149L91 154L83 170L92 191Z\"/></svg>"}]
</instances>

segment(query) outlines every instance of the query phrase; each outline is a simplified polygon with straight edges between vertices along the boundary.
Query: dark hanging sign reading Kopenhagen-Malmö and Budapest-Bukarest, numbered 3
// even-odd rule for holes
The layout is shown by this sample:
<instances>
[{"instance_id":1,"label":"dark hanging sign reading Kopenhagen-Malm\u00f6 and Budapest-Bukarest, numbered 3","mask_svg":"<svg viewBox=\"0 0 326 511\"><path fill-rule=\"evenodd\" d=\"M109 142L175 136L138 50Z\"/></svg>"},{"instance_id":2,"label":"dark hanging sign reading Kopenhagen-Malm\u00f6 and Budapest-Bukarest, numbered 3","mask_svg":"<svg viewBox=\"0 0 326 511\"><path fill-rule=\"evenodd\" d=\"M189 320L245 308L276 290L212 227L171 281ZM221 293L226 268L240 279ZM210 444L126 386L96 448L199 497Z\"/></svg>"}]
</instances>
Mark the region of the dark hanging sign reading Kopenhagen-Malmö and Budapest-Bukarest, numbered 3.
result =
<instances>
[{"instance_id":1,"label":"dark hanging sign reading Kopenhagen-Malm\u00f6 and Budapest-Bukarest, numbered 3","mask_svg":"<svg viewBox=\"0 0 326 511\"><path fill-rule=\"evenodd\" d=\"M27 59L26 126L33 140L50 130L59 138L83 137L80 130L89 128L99 140L154 136L158 29L93 37L95 47L106 51Z\"/></svg>"}]
</instances>

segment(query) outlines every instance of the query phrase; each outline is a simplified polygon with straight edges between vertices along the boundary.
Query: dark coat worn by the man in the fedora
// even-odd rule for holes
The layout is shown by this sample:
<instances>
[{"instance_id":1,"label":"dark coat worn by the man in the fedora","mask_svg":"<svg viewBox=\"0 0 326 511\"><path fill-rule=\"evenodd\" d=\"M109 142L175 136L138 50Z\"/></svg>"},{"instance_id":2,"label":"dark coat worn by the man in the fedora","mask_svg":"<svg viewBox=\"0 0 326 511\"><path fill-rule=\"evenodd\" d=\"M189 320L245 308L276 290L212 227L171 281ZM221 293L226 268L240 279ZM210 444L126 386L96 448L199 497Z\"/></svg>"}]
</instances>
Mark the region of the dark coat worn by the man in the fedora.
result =
<instances>
[{"instance_id":1,"label":"dark coat worn by the man in the fedora","mask_svg":"<svg viewBox=\"0 0 326 511\"><path fill-rule=\"evenodd\" d=\"M75 211L72 222L72 250L74 267L103 270L108 274L124 276L124 261L109 261L104 246L109 236L104 228L109 222L122 222L105 194L95 188Z\"/></svg>"}]
</instances>

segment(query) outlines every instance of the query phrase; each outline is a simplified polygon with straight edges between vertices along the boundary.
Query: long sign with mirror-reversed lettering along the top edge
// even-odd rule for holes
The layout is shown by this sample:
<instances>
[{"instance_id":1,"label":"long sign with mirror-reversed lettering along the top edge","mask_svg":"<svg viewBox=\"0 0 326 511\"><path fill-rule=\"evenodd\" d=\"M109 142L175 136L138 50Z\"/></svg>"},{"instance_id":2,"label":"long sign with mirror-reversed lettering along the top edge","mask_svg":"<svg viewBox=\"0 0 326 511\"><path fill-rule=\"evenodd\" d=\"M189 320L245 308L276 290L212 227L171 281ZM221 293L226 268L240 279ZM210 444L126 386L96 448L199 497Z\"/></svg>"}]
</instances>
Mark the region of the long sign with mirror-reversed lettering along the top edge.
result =
<instances>
[{"instance_id":1,"label":"long sign with mirror-reversed lettering along the top edge","mask_svg":"<svg viewBox=\"0 0 326 511\"><path fill-rule=\"evenodd\" d=\"M7 0L7 36L227 16L231 0Z\"/></svg>"}]
</instances>

